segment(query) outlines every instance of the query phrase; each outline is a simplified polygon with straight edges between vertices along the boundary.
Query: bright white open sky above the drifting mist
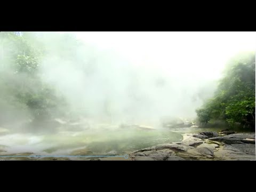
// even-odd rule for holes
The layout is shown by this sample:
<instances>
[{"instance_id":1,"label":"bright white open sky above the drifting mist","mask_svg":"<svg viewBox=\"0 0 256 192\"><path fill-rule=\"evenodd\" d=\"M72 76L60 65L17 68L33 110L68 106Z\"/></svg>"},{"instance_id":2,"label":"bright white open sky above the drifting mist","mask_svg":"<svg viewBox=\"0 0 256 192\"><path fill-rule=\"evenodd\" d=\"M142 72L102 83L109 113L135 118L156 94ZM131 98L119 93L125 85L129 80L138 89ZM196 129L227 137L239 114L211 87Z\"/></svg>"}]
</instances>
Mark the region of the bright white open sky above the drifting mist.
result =
<instances>
[{"instance_id":1,"label":"bright white open sky above the drifting mist","mask_svg":"<svg viewBox=\"0 0 256 192\"><path fill-rule=\"evenodd\" d=\"M253 51L255 32L76 32L101 51L166 75L217 79L230 57ZM210 71L210 73L209 73Z\"/></svg>"}]
</instances>

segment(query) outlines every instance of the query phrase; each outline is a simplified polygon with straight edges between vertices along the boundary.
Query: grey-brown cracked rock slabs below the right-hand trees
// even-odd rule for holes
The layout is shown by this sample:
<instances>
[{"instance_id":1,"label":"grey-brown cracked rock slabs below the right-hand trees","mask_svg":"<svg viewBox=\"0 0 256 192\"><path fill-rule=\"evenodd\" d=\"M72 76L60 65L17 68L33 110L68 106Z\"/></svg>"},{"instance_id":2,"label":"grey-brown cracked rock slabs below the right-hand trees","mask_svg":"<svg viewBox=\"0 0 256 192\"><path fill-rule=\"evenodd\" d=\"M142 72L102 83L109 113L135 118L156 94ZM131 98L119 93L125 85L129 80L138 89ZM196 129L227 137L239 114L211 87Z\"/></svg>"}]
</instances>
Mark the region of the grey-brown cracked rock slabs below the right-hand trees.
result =
<instances>
[{"instance_id":1,"label":"grey-brown cracked rock slabs below the right-hand trees","mask_svg":"<svg viewBox=\"0 0 256 192\"><path fill-rule=\"evenodd\" d=\"M115 158L107 157L100 160ZM126 160L255 160L255 133L235 133L221 137L216 132L186 133L183 134L181 142L163 143L136 150L129 154Z\"/></svg>"}]
</instances>

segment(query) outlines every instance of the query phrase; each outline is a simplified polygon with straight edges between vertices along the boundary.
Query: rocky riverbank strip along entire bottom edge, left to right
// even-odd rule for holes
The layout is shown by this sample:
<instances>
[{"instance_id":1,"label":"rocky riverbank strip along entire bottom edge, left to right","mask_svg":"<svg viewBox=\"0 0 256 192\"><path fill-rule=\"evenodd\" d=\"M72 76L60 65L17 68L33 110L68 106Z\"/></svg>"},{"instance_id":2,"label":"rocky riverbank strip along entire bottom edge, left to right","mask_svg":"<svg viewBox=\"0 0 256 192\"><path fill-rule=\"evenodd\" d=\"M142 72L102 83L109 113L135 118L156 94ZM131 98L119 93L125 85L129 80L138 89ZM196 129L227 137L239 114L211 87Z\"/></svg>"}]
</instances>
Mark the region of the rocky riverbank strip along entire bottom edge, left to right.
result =
<instances>
[{"instance_id":1,"label":"rocky riverbank strip along entire bottom edge, left to right","mask_svg":"<svg viewBox=\"0 0 256 192\"><path fill-rule=\"evenodd\" d=\"M221 135L221 136L220 136ZM163 143L156 146L128 152L118 157L79 157L98 154L87 148L74 150L75 157L40 157L33 153L7 153L6 146L0 145L0 154L4 160L87 160L87 161L191 161L191 160L255 160L255 133L199 132L183 134L180 142ZM16 156L16 157L15 157ZM19 157L17 157L19 156Z\"/></svg>"}]
</instances>

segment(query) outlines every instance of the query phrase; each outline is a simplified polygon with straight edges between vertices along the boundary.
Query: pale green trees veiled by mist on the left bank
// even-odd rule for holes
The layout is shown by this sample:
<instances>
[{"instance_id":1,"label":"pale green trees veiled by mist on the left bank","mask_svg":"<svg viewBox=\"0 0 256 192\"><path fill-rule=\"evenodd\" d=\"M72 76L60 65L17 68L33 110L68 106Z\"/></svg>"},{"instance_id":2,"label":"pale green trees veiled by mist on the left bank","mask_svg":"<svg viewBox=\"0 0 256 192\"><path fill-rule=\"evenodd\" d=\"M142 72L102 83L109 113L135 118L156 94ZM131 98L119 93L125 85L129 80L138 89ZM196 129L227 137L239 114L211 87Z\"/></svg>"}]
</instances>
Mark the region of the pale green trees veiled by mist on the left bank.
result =
<instances>
[{"instance_id":1,"label":"pale green trees veiled by mist on the left bank","mask_svg":"<svg viewBox=\"0 0 256 192\"><path fill-rule=\"evenodd\" d=\"M66 102L41 79L39 67L47 50L36 33L0 33L0 124L33 121L61 114Z\"/></svg>"}]
</instances>

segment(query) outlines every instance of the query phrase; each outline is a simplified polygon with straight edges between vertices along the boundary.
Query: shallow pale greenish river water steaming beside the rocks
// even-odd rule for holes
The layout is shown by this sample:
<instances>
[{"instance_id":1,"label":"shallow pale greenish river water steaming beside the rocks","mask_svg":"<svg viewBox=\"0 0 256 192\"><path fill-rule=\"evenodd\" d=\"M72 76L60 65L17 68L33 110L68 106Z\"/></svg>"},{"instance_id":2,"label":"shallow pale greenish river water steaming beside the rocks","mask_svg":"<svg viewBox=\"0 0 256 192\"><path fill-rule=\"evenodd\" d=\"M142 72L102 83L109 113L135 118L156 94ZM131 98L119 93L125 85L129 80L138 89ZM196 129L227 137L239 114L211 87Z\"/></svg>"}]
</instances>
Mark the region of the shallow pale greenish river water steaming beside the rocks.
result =
<instances>
[{"instance_id":1,"label":"shallow pale greenish river water steaming beside the rocks","mask_svg":"<svg viewBox=\"0 0 256 192\"><path fill-rule=\"evenodd\" d=\"M60 131L58 133L14 133L0 136L0 154L34 155L124 155L134 150L182 140L183 133L220 132L218 128L173 128L156 130L115 129Z\"/></svg>"}]
</instances>

